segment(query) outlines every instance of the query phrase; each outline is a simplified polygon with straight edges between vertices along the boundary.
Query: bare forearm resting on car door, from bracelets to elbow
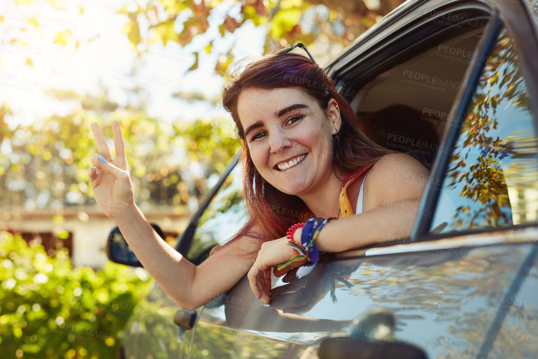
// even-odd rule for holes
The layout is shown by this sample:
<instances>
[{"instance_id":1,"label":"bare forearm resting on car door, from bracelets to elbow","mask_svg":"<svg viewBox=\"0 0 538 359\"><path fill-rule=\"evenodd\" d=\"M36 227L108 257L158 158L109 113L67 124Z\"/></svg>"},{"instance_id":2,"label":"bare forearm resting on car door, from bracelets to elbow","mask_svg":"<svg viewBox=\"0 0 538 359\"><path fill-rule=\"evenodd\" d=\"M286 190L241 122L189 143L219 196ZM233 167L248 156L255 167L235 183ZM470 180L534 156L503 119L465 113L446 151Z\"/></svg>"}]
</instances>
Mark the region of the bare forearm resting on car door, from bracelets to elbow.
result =
<instances>
[{"instance_id":1,"label":"bare forearm resting on car door, from bracelets to elbow","mask_svg":"<svg viewBox=\"0 0 538 359\"><path fill-rule=\"evenodd\" d=\"M342 252L409 236L418 205L418 200L391 202L369 212L330 221L317 236L317 248Z\"/></svg>"}]
</instances>

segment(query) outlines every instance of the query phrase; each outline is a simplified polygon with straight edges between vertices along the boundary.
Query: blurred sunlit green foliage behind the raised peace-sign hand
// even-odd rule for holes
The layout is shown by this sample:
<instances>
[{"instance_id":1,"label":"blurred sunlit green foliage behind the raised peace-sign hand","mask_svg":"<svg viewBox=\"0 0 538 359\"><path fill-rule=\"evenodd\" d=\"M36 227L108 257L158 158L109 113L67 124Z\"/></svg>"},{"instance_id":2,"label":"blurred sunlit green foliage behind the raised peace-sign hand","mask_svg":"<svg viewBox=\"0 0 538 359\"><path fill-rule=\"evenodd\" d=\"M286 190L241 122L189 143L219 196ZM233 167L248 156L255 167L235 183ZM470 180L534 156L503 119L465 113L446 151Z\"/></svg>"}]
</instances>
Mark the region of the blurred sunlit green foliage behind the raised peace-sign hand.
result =
<instances>
[{"instance_id":1,"label":"blurred sunlit green foliage behind the raised peace-sign hand","mask_svg":"<svg viewBox=\"0 0 538 359\"><path fill-rule=\"evenodd\" d=\"M26 128L10 131L2 125L9 111L0 112L0 181L2 206L98 208L88 179L91 154L97 153L90 124L97 122L114 156L111 122L119 121L137 203L145 207L174 207L188 211L191 197L199 203L207 192L206 179L222 172L238 150L229 121L224 118L180 118L173 126L165 118L144 112L147 107L119 107L107 94L93 97L76 93L82 109L66 116L52 115ZM194 172L192 166L199 171ZM5 193L5 194L4 194Z\"/></svg>"}]
</instances>

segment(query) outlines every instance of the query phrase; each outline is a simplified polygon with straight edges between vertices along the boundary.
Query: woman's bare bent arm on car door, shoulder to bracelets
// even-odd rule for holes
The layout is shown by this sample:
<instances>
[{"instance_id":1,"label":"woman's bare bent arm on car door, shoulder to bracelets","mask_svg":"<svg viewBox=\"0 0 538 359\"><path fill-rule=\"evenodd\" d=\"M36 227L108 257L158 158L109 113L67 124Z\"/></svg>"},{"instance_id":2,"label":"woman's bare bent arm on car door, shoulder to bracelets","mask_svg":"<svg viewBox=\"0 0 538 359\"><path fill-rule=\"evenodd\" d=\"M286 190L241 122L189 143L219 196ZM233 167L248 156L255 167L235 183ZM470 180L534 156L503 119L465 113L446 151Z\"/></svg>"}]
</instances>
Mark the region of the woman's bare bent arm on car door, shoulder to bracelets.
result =
<instances>
[{"instance_id":1,"label":"woman's bare bent arm on car door, shoulder to bracelets","mask_svg":"<svg viewBox=\"0 0 538 359\"><path fill-rule=\"evenodd\" d=\"M342 252L411 234L428 171L404 153L385 156L372 167L364 212L331 221L316 238L318 250Z\"/></svg>"}]
</instances>

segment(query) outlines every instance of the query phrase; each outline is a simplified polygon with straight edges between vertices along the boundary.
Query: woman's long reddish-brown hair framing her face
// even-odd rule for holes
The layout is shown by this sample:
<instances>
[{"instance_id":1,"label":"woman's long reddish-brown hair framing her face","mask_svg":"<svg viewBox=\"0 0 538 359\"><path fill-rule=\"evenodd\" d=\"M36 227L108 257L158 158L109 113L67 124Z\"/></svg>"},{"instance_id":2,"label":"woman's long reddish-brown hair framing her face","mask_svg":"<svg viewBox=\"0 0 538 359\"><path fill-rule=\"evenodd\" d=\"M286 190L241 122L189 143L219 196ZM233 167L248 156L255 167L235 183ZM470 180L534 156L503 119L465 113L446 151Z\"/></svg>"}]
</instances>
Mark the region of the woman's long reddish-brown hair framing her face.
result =
<instances>
[{"instance_id":1,"label":"woman's long reddish-brown hair framing her face","mask_svg":"<svg viewBox=\"0 0 538 359\"><path fill-rule=\"evenodd\" d=\"M243 61L238 64L239 67L242 66ZM333 136L331 156L335 174L335 168L345 174L362 170L393 151L377 145L359 131L350 104L338 93L334 82L323 69L309 58L297 53L268 55L251 62L243 72L237 74L239 67L226 75L222 103L236 124L238 137L243 140L240 158L243 164L243 196L250 220L232 241L239 236L250 235L259 238L261 244L284 237L287 229L294 223L304 222L314 215L298 196L279 191L267 180L264 185L264 198L261 197L261 175L252 162L249 147L245 144L244 129L237 112L237 101L243 90L295 87L305 91L325 111L329 100L334 98L342 118L338 143L336 135ZM256 233L252 233L253 226L257 227ZM217 247L213 248L211 253Z\"/></svg>"}]
</instances>

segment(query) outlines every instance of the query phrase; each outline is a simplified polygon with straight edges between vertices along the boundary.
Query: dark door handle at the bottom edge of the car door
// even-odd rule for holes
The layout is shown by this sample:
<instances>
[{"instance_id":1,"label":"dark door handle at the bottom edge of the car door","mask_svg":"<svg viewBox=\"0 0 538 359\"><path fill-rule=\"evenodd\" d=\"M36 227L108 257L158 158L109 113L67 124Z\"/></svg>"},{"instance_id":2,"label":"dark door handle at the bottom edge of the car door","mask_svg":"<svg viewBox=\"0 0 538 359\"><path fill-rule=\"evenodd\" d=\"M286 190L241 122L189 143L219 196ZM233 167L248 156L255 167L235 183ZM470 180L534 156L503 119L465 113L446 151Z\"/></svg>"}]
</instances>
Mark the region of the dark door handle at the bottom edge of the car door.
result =
<instances>
[{"instance_id":1,"label":"dark door handle at the bottom edge of the car door","mask_svg":"<svg viewBox=\"0 0 538 359\"><path fill-rule=\"evenodd\" d=\"M409 343L345 336L323 340L318 356L320 359L428 359L422 349Z\"/></svg>"}]
</instances>

